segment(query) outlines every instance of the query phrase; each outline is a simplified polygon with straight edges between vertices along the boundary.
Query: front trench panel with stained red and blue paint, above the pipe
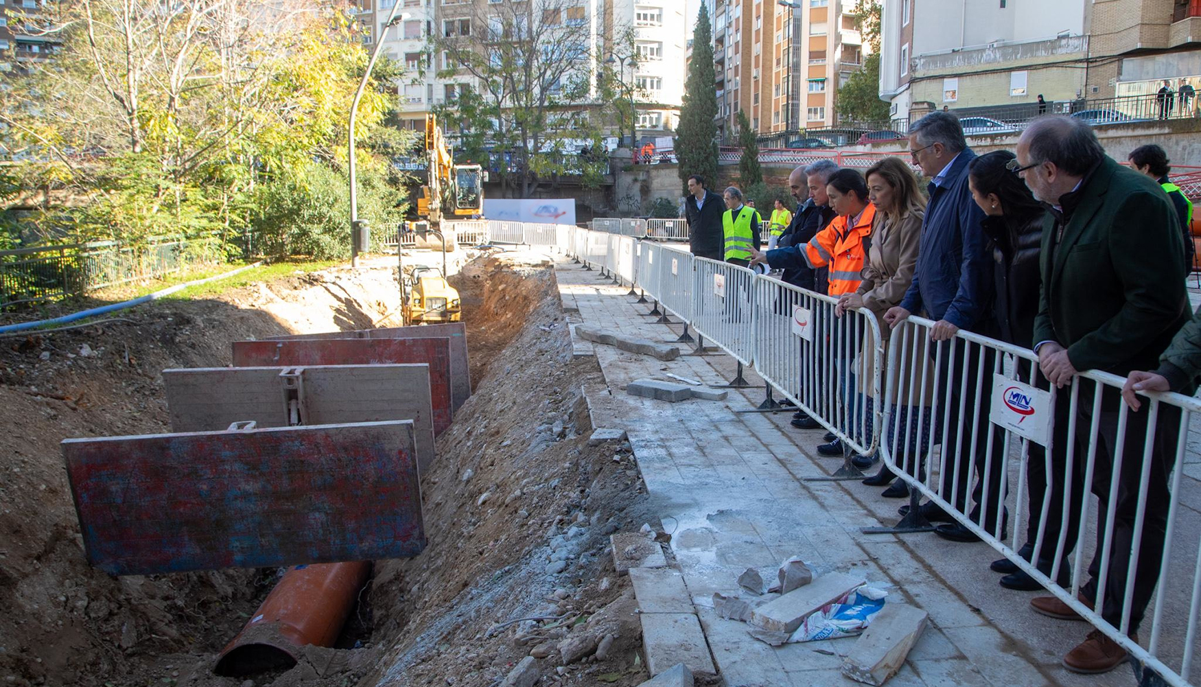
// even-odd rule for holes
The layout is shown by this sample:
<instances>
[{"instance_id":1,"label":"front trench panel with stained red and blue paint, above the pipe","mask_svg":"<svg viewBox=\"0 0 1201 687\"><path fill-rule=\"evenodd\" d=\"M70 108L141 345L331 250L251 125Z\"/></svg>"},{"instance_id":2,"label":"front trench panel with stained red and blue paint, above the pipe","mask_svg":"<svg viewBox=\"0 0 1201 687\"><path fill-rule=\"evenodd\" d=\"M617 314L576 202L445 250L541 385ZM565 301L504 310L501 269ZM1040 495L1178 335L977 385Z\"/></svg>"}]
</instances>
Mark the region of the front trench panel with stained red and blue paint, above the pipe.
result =
<instances>
[{"instance_id":1,"label":"front trench panel with stained red and blue paint, above the pipe","mask_svg":"<svg viewBox=\"0 0 1201 687\"><path fill-rule=\"evenodd\" d=\"M412 423L68 438L88 562L114 575L414 556Z\"/></svg>"}]
</instances>

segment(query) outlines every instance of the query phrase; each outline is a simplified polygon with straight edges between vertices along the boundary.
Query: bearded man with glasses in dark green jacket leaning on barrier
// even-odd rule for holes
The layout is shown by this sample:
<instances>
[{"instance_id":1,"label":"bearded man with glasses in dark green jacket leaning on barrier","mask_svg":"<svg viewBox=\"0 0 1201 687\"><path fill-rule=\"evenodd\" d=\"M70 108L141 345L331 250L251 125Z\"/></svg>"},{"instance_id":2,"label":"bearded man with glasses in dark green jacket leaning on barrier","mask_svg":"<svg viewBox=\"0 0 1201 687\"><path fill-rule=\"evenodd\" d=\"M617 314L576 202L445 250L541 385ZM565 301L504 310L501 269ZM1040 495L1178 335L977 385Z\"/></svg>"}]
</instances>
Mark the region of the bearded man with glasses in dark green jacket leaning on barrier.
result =
<instances>
[{"instance_id":1,"label":"bearded man with glasses in dark green jacket leaning on barrier","mask_svg":"<svg viewBox=\"0 0 1201 687\"><path fill-rule=\"evenodd\" d=\"M1115 474L1121 393L1112 388L1099 390L1099 430L1095 446L1089 447L1093 395L1099 387L1074 378L1083 370L1124 376L1154 366L1188 321L1179 225L1163 190L1152 179L1109 159L1083 120L1036 119L1017 142L1012 171L1026 180L1036 198L1051 207L1044 226L1041 294L1034 322L1039 368L1060 389L1052 438L1052 484L1059 486L1048 489L1048 496L1054 504L1065 500L1063 473L1068 443L1074 440L1074 484L1066 485L1070 508L1063 524L1068 530L1065 548L1070 550L1077 528L1083 525L1078 522L1078 513L1085 488L1091 488L1100 501L1094 513L1106 513L1111 482L1118 482L1113 520L1107 527L1098 527L1098 552L1088 569L1091 579L1080 590L1080 596L1106 622L1122 627L1127 589L1130 587L1128 632L1134 638L1159 579L1171 502L1167 478L1176 456L1177 432L1155 432L1152 442L1142 544L1131 578L1128 573L1136 536L1143 446L1147 432L1154 430L1148 429L1146 413L1128 416L1123 459ZM1137 231L1131 231L1130 217L1139 219ZM1075 392L1078 396L1075 437L1068 436L1071 393L1065 387L1071 383L1080 387ZM1160 408L1159 426L1171 426L1173 418L1178 426L1179 417L1177 408ZM1093 483L1085 485L1081 482L1089 458L1093 459ZM1106 533L1112 545L1107 546L1110 558L1101 575L1100 551ZM1058 534L1058 531L1048 533L1045 540L1050 546L1056 545ZM1098 589L1103 577L1105 587ZM1057 597L1039 597L1032 599L1030 605L1042 615L1080 620ZM1093 631L1064 656L1063 664L1076 673L1105 673L1125 658L1122 645Z\"/></svg>"}]
</instances>

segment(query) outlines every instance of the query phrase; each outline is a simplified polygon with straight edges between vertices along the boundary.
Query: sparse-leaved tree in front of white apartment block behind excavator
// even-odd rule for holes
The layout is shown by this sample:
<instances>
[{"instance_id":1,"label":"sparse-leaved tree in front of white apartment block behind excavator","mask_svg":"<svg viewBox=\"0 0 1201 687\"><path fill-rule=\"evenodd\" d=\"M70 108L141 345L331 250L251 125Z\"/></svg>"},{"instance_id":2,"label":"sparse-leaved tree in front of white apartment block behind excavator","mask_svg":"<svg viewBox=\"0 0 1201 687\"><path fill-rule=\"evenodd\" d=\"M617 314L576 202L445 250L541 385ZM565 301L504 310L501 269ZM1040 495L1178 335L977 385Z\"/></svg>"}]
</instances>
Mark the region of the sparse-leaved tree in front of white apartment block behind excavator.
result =
<instances>
[{"instance_id":1,"label":"sparse-leaved tree in front of white apartment block behind excavator","mask_svg":"<svg viewBox=\"0 0 1201 687\"><path fill-rule=\"evenodd\" d=\"M534 197L540 185L569 173L582 173L585 184L599 181L603 156L575 153L603 148L588 112L599 60L586 48L590 28L576 18L576 6L574 0L474 4L467 35L440 32L434 40L448 62L438 76L478 84L478 90L460 85L440 108L447 133L458 138L460 156L491 171L506 197Z\"/></svg>"}]
</instances>

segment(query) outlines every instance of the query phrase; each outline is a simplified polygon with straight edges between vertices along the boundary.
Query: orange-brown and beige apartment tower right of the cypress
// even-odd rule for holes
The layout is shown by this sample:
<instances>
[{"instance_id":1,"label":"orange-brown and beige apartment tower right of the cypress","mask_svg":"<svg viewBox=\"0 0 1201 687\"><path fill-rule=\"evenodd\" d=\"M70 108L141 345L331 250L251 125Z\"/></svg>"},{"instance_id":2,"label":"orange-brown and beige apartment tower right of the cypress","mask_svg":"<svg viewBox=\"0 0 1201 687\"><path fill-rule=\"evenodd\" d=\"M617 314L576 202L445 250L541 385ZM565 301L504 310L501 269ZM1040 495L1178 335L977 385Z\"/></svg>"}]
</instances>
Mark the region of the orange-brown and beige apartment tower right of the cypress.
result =
<instances>
[{"instance_id":1,"label":"orange-brown and beige apartment tower right of the cypress","mask_svg":"<svg viewBox=\"0 0 1201 687\"><path fill-rule=\"evenodd\" d=\"M842 0L716 0L713 59L718 131L731 138L739 112L760 136L837 124L838 86L867 49Z\"/></svg>"}]
</instances>

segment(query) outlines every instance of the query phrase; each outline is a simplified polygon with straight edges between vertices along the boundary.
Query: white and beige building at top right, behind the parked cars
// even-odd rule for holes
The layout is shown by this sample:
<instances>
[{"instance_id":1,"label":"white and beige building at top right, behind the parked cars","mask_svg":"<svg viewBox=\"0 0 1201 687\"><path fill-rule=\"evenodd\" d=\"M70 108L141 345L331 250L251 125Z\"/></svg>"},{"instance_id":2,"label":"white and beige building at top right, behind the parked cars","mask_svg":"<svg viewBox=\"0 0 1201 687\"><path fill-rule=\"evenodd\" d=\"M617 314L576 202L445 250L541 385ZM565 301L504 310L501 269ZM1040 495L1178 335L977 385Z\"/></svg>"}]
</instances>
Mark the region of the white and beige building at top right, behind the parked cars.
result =
<instances>
[{"instance_id":1,"label":"white and beige building at top right, behind the parked cars","mask_svg":"<svg viewBox=\"0 0 1201 687\"><path fill-rule=\"evenodd\" d=\"M1201 0L898 0L884 4L880 98L892 118L997 117L1201 89Z\"/></svg>"}]
</instances>

